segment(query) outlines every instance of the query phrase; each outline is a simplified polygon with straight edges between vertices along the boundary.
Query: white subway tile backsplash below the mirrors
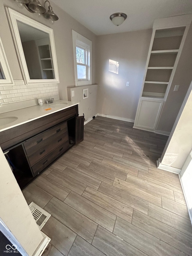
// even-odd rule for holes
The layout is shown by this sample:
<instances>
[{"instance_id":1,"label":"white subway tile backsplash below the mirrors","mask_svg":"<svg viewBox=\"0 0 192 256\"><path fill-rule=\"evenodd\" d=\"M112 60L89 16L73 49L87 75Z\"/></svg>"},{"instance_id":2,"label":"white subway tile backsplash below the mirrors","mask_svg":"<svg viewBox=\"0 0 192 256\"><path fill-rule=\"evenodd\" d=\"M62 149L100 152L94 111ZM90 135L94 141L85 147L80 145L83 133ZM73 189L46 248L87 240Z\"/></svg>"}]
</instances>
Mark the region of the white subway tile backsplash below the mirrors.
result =
<instances>
[{"instance_id":1,"label":"white subway tile backsplash below the mirrors","mask_svg":"<svg viewBox=\"0 0 192 256\"><path fill-rule=\"evenodd\" d=\"M0 86L0 104L21 102L41 97L58 95L57 84L25 85L23 80L15 80L13 86Z\"/></svg>"}]
</instances>

